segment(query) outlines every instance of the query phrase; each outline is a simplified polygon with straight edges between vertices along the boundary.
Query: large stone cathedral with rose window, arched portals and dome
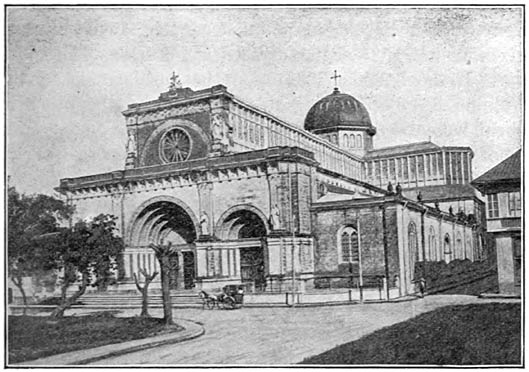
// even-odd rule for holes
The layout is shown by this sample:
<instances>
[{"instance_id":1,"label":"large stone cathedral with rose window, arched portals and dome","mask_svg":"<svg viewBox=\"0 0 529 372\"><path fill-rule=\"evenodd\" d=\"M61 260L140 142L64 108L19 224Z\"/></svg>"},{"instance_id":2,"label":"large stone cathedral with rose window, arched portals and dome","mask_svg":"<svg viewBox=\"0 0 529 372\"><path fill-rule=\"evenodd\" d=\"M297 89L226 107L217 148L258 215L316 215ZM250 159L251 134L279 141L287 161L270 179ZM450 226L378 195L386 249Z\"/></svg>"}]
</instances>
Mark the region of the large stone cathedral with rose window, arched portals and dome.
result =
<instances>
[{"instance_id":1,"label":"large stone cathedral with rose window, arched portals and dome","mask_svg":"<svg viewBox=\"0 0 529 372\"><path fill-rule=\"evenodd\" d=\"M174 75L174 74L173 74ZM252 292L379 285L416 291L421 263L484 259L469 147L374 146L366 106L338 88L303 128L234 96L172 80L123 111L124 169L61 179L75 219L118 218L118 286L178 248L175 289Z\"/></svg>"}]
</instances>

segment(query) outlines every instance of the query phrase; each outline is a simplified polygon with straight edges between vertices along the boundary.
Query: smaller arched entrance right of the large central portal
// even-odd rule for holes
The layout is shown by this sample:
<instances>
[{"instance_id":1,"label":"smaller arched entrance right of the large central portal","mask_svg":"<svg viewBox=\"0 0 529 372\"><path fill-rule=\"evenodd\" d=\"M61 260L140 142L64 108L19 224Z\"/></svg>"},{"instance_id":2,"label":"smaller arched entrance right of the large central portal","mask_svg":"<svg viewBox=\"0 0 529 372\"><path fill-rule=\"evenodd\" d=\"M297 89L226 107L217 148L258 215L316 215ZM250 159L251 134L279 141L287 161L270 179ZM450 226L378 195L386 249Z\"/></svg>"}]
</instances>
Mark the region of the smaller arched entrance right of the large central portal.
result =
<instances>
[{"instance_id":1,"label":"smaller arched entrance right of the large central portal","mask_svg":"<svg viewBox=\"0 0 529 372\"><path fill-rule=\"evenodd\" d=\"M234 208L221 217L220 235L222 240L237 241L242 282L263 291L266 286L266 240L263 238L267 235L267 228L259 214Z\"/></svg>"}]
</instances>

